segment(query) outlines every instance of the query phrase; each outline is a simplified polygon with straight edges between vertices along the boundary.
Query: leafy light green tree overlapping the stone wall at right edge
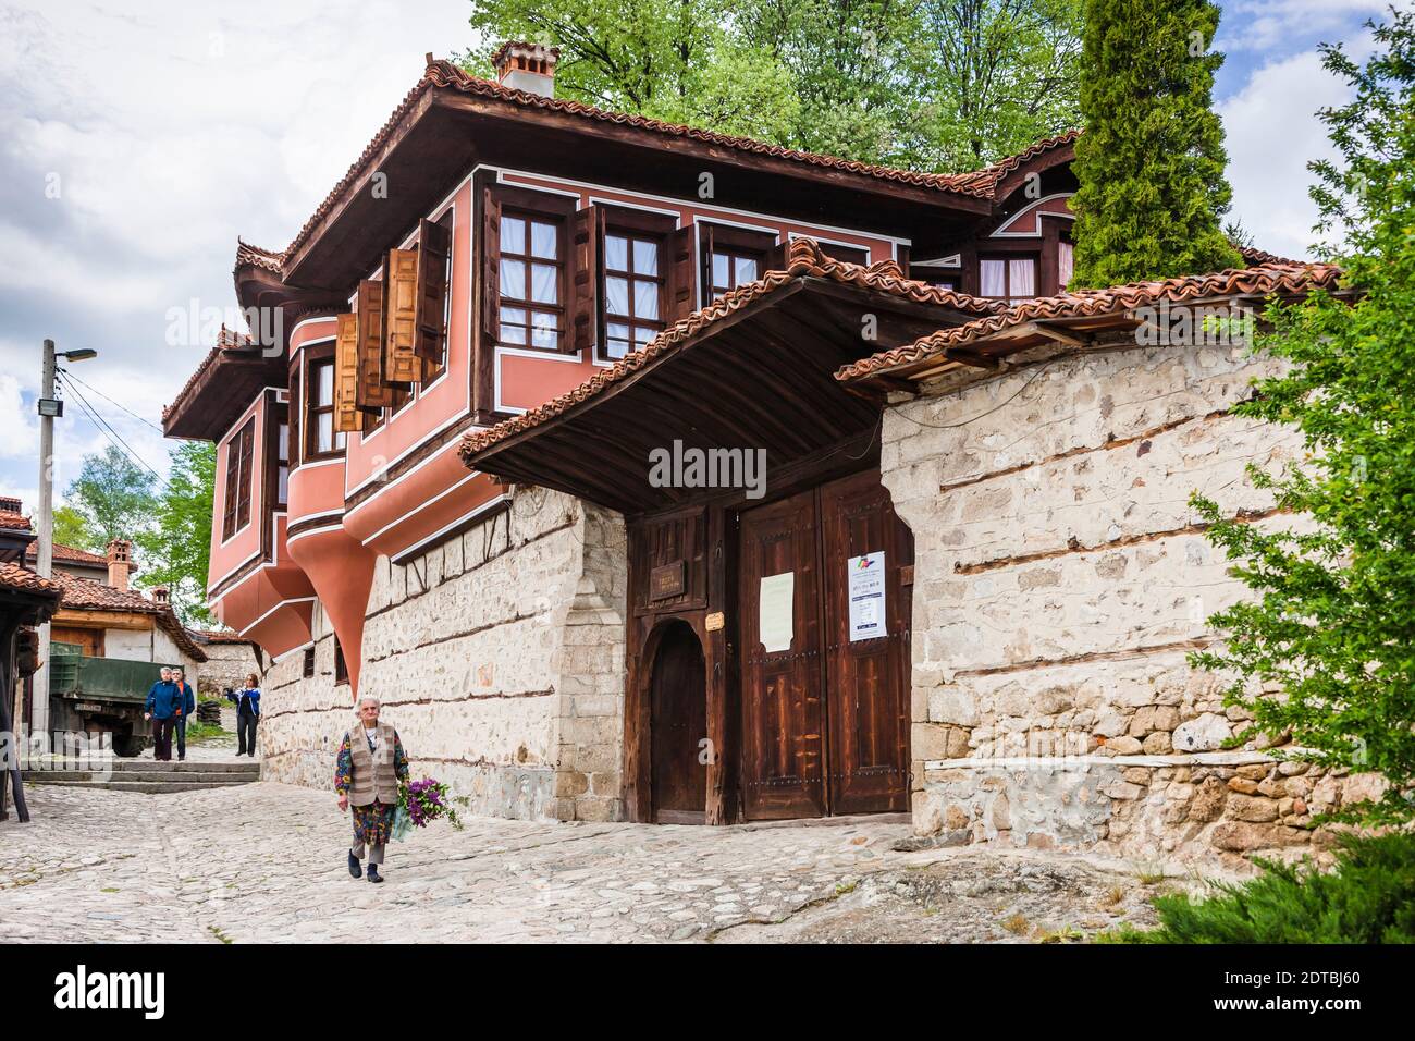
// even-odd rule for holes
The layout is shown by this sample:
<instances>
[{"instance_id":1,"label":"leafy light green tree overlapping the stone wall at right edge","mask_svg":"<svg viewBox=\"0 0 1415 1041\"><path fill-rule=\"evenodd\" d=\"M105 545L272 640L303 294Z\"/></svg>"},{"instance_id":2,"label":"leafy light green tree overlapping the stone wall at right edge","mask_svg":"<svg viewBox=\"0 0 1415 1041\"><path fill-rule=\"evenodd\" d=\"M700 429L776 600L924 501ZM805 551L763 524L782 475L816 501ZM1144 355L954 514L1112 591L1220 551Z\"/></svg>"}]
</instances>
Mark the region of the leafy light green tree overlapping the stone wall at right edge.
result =
<instances>
[{"instance_id":1,"label":"leafy light green tree overlapping the stone wall at right edge","mask_svg":"<svg viewBox=\"0 0 1415 1041\"><path fill-rule=\"evenodd\" d=\"M1271 307L1275 330L1259 347L1290 370L1237 409L1302 433L1305 460L1251 473L1306 517L1265 530L1194 499L1210 540L1255 593L1211 619L1225 649L1194 661L1232 670L1227 697L1252 714L1251 731L1290 732L1319 763L1391 782L1384 800L1346 816L1408 820L1399 790L1415 780L1415 16L1371 28L1377 47L1364 67L1323 48L1353 101L1322 112L1340 160L1310 164L1319 231L1344 237L1323 255L1341 263L1356 300L1315 293Z\"/></svg>"}]
</instances>

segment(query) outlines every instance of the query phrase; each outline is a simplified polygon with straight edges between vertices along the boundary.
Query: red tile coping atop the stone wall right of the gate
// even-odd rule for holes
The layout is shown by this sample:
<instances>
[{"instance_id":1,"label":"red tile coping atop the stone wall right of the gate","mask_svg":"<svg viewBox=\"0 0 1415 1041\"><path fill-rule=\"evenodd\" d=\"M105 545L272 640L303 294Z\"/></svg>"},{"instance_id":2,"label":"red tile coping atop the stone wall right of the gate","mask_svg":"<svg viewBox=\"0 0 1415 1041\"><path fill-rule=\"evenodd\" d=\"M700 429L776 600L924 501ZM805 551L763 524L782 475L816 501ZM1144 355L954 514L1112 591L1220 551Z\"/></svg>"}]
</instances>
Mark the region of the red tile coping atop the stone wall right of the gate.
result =
<instances>
[{"instance_id":1,"label":"red tile coping atop the stone wall right of the gate","mask_svg":"<svg viewBox=\"0 0 1415 1041\"><path fill-rule=\"evenodd\" d=\"M1091 289L1060 293L1015 305L1003 314L975 319L954 329L941 329L911 344L872 354L842 367L835 378L841 381L880 375L889 370L941 358L951 347L983 340L1005 329L1029 322L1057 322L1088 319L1105 314L1124 316L1133 307L1170 303L1197 303L1231 296L1299 296L1313 289L1336 289L1340 268L1329 263L1266 265L1261 268L1228 269L1211 275L1187 275L1160 282L1132 282L1111 289Z\"/></svg>"}]
</instances>

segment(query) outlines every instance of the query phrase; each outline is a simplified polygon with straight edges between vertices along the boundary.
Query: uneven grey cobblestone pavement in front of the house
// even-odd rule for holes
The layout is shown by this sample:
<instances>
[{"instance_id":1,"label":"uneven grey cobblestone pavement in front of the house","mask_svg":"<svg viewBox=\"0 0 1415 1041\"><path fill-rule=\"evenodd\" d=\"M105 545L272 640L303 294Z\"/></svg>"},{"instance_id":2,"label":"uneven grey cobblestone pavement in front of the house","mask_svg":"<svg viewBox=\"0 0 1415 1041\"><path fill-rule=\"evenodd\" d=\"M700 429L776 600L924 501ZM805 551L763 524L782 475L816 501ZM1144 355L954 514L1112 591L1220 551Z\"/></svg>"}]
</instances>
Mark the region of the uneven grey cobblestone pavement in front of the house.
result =
<instances>
[{"instance_id":1,"label":"uneven grey cobblestone pavement in front of the house","mask_svg":"<svg viewBox=\"0 0 1415 1041\"><path fill-rule=\"evenodd\" d=\"M348 819L304 787L25 789L0 824L6 942L889 942L1078 939L1149 921L1135 870L897 853L908 826L729 829L475 817L350 878Z\"/></svg>"}]
</instances>

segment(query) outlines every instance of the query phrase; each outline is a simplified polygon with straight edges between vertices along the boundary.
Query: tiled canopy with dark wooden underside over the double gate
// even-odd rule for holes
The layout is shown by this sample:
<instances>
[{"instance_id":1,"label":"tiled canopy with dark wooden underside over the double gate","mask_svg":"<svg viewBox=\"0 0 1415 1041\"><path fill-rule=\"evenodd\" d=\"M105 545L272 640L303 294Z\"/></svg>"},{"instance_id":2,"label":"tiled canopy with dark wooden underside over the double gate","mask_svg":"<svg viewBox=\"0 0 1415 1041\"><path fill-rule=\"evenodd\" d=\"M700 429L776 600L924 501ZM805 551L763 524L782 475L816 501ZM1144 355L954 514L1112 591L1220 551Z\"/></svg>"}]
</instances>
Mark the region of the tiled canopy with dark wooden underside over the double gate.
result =
<instances>
[{"instance_id":1,"label":"tiled canopy with dark wooden underside over the double gate","mask_svg":"<svg viewBox=\"0 0 1415 1041\"><path fill-rule=\"evenodd\" d=\"M702 494L649 484L649 453L675 440L766 449L770 479L879 422L882 399L843 388L836 368L998 310L910 282L891 262L843 263L797 239L785 271L732 290L569 394L467 435L463 460L627 514Z\"/></svg>"}]
</instances>

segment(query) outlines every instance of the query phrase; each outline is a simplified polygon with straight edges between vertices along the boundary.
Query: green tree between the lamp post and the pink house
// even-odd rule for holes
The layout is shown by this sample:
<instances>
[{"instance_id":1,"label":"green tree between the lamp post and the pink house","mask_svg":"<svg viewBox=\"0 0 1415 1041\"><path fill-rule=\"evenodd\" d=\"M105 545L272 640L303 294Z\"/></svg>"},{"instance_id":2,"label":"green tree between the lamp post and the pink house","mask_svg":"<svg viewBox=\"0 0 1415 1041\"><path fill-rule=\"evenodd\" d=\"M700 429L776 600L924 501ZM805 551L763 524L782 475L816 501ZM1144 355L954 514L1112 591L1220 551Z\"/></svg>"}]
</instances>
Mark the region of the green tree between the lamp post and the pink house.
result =
<instances>
[{"instance_id":1,"label":"green tree between the lamp post and the pink house","mask_svg":"<svg viewBox=\"0 0 1415 1041\"><path fill-rule=\"evenodd\" d=\"M167 586L173 610L185 625L211 623L207 568L215 483L215 445L184 440L171 455L171 473L157 501L156 524L137 537L143 552L139 584L149 589Z\"/></svg>"}]
</instances>

